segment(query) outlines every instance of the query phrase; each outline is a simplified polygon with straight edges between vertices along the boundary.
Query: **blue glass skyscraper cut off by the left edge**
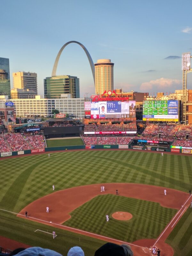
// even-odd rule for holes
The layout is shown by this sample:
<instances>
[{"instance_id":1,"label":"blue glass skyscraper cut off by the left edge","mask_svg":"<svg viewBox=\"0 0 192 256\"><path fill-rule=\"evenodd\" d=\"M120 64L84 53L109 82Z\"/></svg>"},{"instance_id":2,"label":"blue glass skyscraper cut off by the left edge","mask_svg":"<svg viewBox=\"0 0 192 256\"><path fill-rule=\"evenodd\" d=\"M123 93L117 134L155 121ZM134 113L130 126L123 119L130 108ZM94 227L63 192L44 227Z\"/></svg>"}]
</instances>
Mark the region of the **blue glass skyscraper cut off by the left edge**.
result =
<instances>
[{"instance_id":1,"label":"blue glass skyscraper cut off by the left edge","mask_svg":"<svg viewBox=\"0 0 192 256\"><path fill-rule=\"evenodd\" d=\"M11 97L9 59L0 57L0 95Z\"/></svg>"}]
</instances>

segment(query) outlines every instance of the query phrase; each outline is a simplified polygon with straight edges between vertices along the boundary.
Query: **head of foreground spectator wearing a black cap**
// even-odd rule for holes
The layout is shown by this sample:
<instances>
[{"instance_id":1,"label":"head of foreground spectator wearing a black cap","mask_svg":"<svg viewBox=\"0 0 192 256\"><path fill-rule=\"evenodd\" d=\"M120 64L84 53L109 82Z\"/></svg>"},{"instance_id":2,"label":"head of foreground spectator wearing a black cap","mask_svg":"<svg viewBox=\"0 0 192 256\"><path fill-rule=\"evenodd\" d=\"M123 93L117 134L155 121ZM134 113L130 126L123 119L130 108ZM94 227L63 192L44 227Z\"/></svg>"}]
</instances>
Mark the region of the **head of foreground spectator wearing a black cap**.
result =
<instances>
[{"instance_id":1,"label":"head of foreground spectator wearing a black cap","mask_svg":"<svg viewBox=\"0 0 192 256\"><path fill-rule=\"evenodd\" d=\"M95 256L133 256L133 252L127 244L107 243L95 252Z\"/></svg>"}]
</instances>

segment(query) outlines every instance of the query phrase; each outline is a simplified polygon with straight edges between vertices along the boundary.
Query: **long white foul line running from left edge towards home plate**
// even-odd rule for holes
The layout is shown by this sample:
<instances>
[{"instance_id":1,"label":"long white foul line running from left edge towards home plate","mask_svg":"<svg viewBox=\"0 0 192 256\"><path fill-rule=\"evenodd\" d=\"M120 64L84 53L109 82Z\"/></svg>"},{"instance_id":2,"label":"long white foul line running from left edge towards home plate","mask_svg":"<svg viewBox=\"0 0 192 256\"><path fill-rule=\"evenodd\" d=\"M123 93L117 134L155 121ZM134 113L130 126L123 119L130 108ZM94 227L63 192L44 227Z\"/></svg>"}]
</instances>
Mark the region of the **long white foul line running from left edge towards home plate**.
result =
<instances>
[{"instance_id":1,"label":"long white foul line running from left edge towards home plate","mask_svg":"<svg viewBox=\"0 0 192 256\"><path fill-rule=\"evenodd\" d=\"M4 210L4 209L0 209L0 210L1 210L1 211L4 211L4 212L10 212L10 211ZM16 215L25 216L24 214L20 214L20 213L16 213L16 212L11 212L11 213L16 214ZM43 221L43 222L46 222L46 223L49 223L49 224L50 224L50 221L47 221L47 220L41 220L41 219L37 219L37 218L29 217L29 216L28 216L28 219L29 219L29 218L30 218L30 219L34 219L34 220L40 220L40 221ZM80 231L80 232L85 233L85 234L89 234L89 235L93 235L93 236L97 236L97 237L102 237L102 238L107 238L107 239L110 239L110 240L113 240L113 241L116 241L116 242L120 242L120 243L129 244L129 245L132 245L132 246L136 246L136 247L143 248L142 246L139 246L139 245L136 245L136 244L130 244L130 243L127 243L127 242L125 242L125 241L117 240L117 239L114 239L114 238L111 238L111 237L108 237L108 236L101 236L101 235L94 234L94 233L91 233L91 232L88 232L88 231L84 231L84 230L77 229L77 228L71 228L71 227L64 226L64 225L57 224L57 223L53 223L53 222L51 222L51 224L57 225L57 226L60 226L60 227L67 228L69 231L70 231L70 230L76 230L76 231ZM66 230L66 229L65 229L65 230ZM80 235L84 235L84 234L80 234ZM96 238L96 237L94 237L94 238ZM98 239L99 239L99 238L98 238Z\"/></svg>"}]
</instances>

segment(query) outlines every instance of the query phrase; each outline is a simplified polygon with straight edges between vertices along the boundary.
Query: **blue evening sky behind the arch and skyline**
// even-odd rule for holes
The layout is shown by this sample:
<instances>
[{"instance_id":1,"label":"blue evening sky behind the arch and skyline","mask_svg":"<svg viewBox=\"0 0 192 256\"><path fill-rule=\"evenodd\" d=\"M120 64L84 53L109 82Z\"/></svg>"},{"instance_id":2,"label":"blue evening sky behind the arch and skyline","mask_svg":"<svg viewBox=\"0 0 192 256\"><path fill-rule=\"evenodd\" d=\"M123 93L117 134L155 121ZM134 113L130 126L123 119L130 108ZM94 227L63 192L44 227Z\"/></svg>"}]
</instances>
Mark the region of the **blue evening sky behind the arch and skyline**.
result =
<instances>
[{"instance_id":1,"label":"blue evening sky behind the arch and skyline","mask_svg":"<svg viewBox=\"0 0 192 256\"><path fill-rule=\"evenodd\" d=\"M9 58L11 87L13 72L35 72L43 95L60 48L78 41L94 63L114 63L114 89L152 95L182 89L181 56L192 55L191 1L0 0L0 6L0 57ZM95 92L78 44L65 47L56 75L77 76L81 97Z\"/></svg>"}]
</instances>

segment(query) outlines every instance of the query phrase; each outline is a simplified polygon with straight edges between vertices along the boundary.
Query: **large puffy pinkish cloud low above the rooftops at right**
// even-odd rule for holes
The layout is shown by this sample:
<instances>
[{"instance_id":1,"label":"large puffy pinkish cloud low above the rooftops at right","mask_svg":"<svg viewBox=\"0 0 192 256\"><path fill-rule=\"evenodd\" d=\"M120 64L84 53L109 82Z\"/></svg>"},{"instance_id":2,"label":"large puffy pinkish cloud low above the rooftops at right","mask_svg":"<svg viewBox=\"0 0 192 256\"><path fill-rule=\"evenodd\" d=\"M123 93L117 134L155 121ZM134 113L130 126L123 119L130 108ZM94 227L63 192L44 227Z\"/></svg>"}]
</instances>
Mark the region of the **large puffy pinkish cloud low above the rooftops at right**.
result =
<instances>
[{"instance_id":1,"label":"large puffy pinkish cloud low above the rooftops at right","mask_svg":"<svg viewBox=\"0 0 192 256\"><path fill-rule=\"evenodd\" d=\"M170 79L170 78L160 78L156 80L151 80L150 82L142 83L140 86L141 91L150 91L153 89L154 91L160 89L172 88L175 85L181 84L181 80L178 79Z\"/></svg>"}]
</instances>

